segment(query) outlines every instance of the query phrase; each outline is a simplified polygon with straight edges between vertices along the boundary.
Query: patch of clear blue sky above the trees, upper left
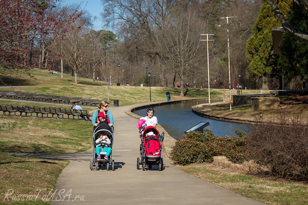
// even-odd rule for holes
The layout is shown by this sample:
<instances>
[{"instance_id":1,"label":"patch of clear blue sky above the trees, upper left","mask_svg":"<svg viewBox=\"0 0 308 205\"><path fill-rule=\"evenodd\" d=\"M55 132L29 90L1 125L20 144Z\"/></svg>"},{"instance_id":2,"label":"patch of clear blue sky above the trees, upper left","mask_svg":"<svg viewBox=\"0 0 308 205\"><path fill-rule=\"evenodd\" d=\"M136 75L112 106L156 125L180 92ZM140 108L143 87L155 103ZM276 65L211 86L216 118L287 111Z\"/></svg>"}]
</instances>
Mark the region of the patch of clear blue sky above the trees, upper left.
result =
<instances>
[{"instance_id":1,"label":"patch of clear blue sky above the trees, upper left","mask_svg":"<svg viewBox=\"0 0 308 205\"><path fill-rule=\"evenodd\" d=\"M92 17L96 16L97 20L93 22L94 27L96 30L105 29L103 27L102 20L100 20L101 16L100 13L103 11L103 5L101 0L89 0L89 1L79 1L79 0L62 0L61 4L63 6L70 5L70 4L81 4L81 9L87 10ZM110 30L110 29L108 29Z\"/></svg>"}]
</instances>

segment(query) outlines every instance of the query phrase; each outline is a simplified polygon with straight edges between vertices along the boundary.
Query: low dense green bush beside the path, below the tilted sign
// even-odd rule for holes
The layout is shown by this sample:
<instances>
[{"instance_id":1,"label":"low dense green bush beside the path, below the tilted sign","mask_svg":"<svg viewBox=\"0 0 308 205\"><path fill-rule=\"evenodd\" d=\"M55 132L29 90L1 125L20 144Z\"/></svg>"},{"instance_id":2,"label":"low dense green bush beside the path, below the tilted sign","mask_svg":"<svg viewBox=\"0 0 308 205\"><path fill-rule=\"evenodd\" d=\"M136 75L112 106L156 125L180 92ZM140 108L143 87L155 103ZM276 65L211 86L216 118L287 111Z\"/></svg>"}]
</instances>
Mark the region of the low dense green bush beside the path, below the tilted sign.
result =
<instances>
[{"instance_id":1,"label":"low dense green bush beside the path, below the tilted sign","mask_svg":"<svg viewBox=\"0 0 308 205\"><path fill-rule=\"evenodd\" d=\"M215 137L211 130L189 132L172 147L171 159L181 165L212 162L213 156L226 156L230 161L246 160L246 137Z\"/></svg>"}]
</instances>

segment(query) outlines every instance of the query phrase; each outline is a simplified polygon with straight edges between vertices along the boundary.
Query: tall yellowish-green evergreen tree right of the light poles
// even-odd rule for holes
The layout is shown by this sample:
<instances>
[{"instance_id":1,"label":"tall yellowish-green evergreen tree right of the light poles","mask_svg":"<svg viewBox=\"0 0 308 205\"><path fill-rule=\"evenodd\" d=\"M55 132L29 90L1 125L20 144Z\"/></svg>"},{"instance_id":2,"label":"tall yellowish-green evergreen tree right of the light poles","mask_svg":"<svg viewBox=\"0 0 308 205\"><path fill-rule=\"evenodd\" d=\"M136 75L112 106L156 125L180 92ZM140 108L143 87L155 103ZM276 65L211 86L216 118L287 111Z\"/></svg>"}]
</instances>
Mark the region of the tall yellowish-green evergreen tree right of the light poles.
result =
<instances>
[{"instance_id":1,"label":"tall yellowish-green evergreen tree right of the light poles","mask_svg":"<svg viewBox=\"0 0 308 205\"><path fill-rule=\"evenodd\" d=\"M287 13L291 0L277 0L282 13ZM262 88L267 88L267 77L277 74L277 58L271 55L273 50L272 27L279 27L281 23L271 6L263 1L257 22L253 27L253 36L247 40L246 56L249 63L247 75L255 79L262 77Z\"/></svg>"}]
</instances>

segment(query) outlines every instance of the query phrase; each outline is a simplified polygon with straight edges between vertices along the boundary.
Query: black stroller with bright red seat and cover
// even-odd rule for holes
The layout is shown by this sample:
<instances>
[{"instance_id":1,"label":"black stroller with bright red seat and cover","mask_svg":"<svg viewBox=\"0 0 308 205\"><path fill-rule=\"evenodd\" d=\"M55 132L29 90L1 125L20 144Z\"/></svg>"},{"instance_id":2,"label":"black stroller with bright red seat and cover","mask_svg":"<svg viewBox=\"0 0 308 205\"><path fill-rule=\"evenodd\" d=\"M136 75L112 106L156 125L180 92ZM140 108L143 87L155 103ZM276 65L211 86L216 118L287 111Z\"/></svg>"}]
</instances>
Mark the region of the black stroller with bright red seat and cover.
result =
<instances>
[{"instance_id":1,"label":"black stroller with bright red seat and cover","mask_svg":"<svg viewBox=\"0 0 308 205\"><path fill-rule=\"evenodd\" d=\"M152 165L158 165L158 170L161 171L163 169L163 158L161 157L163 133L161 136L155 127L148 126L144 129L140 138L141 158L137 158L137 169L140 169L140 165L142 165L143 171L146 165L148 165L149 169L151 169Z\"/></svg>"}]
</instances>

